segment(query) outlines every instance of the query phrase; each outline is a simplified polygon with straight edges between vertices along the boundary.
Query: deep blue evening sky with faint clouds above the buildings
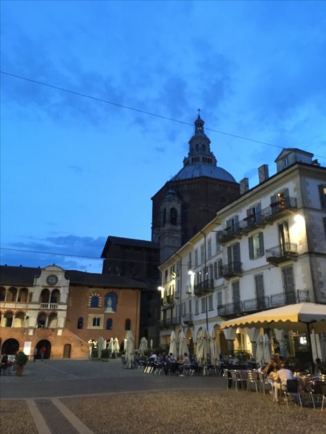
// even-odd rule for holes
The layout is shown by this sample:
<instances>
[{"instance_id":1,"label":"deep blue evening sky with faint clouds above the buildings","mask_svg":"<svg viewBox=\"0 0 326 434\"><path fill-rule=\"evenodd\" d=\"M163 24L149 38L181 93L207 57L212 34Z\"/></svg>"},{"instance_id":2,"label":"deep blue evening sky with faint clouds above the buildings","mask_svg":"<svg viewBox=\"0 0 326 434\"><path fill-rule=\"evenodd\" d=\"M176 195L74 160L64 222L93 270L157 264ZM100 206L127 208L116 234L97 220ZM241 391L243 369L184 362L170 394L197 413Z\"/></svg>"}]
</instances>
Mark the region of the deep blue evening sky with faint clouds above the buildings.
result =
<instances>
[{"instance_id":1,"label":"deep blue evening sky with faint clouds above the buildings","mask_svg":"<svg viewBox=\"0 0 326 434\"><path fill-rule=\"evenodd\" d=\"M1 70L325 156L325 28L322 1L1 1ZM96 272L107 235L150 239L192 133L1 74L1 246L33 251L1 263ZM206 133L237 181L274 173L280 149Z\"/></svg>"}]
</instances>

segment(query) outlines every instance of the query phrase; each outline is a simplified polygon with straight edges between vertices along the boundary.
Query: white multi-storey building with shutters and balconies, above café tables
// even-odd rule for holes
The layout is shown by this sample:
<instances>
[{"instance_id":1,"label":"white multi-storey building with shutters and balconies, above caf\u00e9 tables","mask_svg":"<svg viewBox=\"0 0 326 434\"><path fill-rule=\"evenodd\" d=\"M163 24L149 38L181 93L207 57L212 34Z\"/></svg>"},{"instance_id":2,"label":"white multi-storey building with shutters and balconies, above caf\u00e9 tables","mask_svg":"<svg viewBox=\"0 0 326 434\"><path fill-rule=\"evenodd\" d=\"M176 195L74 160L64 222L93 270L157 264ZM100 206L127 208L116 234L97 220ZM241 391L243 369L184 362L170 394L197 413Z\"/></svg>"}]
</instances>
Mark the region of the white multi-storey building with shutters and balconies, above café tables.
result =
<instances>
[{"instance_id":1,"label":"white multi-storey building with shutters and balconies, above caf\u00e9 tables","mask_svg":"<svg viewBox=\"0 0 326 434\"><path fill-rule=\"evenodd\" d=\"M242 180L239 199L160 265L162 345L172 329L183 328L192 348L205 327L215 329L221 353L252 353L257 332L221 332L224 318L305 301L326 304L326 169L312 157L283 149L275 175L263 165L257 186ZM281 354L307 356L297 332L270 336ZM325 337L326 330L312 336L314 356L324 360Z\"/></svg>"}]
</instances>

